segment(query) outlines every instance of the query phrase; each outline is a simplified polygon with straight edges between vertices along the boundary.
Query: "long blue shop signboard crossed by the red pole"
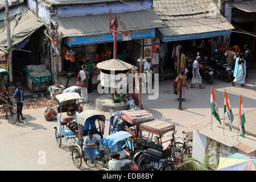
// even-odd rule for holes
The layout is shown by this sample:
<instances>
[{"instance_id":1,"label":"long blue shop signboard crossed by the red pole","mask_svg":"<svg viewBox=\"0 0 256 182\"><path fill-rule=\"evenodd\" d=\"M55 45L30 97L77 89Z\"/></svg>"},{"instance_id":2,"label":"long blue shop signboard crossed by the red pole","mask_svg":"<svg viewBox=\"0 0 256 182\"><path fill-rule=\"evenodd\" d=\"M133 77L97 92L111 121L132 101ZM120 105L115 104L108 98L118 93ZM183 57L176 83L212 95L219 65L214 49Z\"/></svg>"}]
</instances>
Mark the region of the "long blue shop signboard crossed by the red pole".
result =
<instances>
[{"instance_id":1,"label":"long blue shop signboard crossed by the red pole","mask_svg":"<svg viewBox=\"0 0 256 182\"><path fill-rule=\"evenodd\" d=\"M134 39L152 38L155 36L155 28L148 28L144 30L132 30L123 31L117 37L117 41L126 41ZM82 46L86 44L96 44L104 42L113 42L114 39L110 33L101 35L90 35L90 36L70 36L65 38L64 43L67 46Z\"/></svg>"}]
</instances>

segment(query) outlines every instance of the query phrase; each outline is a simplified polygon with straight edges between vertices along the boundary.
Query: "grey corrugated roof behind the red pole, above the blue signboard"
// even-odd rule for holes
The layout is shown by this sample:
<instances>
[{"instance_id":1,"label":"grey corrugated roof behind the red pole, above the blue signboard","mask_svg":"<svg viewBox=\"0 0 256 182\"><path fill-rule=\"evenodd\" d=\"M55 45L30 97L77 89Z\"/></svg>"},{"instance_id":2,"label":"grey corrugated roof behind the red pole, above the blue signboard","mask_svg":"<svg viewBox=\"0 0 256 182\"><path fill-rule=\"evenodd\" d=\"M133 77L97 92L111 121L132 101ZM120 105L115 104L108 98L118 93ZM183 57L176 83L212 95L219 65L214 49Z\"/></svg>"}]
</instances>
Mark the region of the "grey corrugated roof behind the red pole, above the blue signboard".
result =
<instances>
[{"instance_id":1,"label":"grey corrugated roof behind the red pole, above the blue signboard","mask_svg":"<svg viewBox=\"0 0 256 182\"><path fill-rule=\"evenodd\" d=\"M141 10L116 14L120 24L118 31L141 30L146 28L164 27L165 24L153 11ZM67 36L88 36L109 33L109 15L77 16L71 18L53 18L53 22L59 24L58 31Z\"/></svg>"}]
</instances>

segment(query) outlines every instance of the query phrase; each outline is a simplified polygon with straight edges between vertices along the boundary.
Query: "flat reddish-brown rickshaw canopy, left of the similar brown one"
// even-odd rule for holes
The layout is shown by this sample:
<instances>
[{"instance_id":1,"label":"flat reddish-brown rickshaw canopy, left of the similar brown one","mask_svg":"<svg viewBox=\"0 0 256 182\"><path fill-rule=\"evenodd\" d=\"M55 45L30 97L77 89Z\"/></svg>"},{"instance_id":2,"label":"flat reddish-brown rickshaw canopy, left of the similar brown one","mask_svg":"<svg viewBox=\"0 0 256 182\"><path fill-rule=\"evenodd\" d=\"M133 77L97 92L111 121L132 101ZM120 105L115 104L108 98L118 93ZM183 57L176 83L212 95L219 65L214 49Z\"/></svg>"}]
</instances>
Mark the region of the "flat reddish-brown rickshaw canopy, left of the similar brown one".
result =
<instances>
[{"instance_id":1,"label":"flat reddish-brown rickshaw canopy, left of the similar brown one","mask_svg":"<svg viewBox=\"0 0 256 182\"><path fill-rule=\"evenodd\" d=\"M122 112L122 118L132 125L154 120L154 116L147 110L127 110Z\"/></svg>"}]
</instances>

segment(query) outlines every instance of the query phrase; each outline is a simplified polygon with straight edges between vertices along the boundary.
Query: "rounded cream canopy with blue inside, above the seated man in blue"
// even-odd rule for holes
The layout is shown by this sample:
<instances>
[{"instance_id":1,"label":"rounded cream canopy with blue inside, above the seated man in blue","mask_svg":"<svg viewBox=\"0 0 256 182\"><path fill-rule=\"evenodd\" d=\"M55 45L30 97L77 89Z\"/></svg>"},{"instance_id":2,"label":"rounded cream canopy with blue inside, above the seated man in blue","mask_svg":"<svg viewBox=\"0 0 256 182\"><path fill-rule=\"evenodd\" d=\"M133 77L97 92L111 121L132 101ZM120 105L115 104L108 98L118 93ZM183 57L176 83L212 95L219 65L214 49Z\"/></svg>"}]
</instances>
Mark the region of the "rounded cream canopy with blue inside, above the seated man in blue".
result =
<instances>
[{"instance_id":1,"label":"rounded cream canopy with blue inside, above the seated man in blue","mask_svg":"<svg viewBox=\"0 0 256 182\"><path fill-rule=\"evenodd\" d=\"M97 118L105 120L105 115L97 110L85 110L77 115L76 123L82 126L94 126Z\"/></svg>"}]
</instances>

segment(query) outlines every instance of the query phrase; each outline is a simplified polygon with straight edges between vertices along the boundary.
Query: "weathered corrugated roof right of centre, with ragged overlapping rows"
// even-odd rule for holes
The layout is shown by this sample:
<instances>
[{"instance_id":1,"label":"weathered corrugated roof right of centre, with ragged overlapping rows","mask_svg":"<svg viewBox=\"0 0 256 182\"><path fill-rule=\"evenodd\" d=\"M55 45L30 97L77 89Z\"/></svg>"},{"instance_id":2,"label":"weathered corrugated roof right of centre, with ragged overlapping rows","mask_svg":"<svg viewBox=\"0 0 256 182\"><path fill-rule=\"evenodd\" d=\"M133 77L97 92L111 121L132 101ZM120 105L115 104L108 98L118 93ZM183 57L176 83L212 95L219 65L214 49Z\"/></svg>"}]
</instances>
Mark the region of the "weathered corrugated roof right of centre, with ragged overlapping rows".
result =
<instances>
[{"instance_id":1,"label":"weathered corrugated roof right of centre, with ragged overlapping rows","mask_svg":"<svg viewBox=\"0 0 256 182\"><path fill-rule=\"evenodd\" d=\"M158 28L164 36L200 34L234 28L222 15L209 14L213 9L210 0L154 0L153 7L166 24L166 27ZM218 9L215 10L219 13Z\"/></svg>"}]
</instances>

